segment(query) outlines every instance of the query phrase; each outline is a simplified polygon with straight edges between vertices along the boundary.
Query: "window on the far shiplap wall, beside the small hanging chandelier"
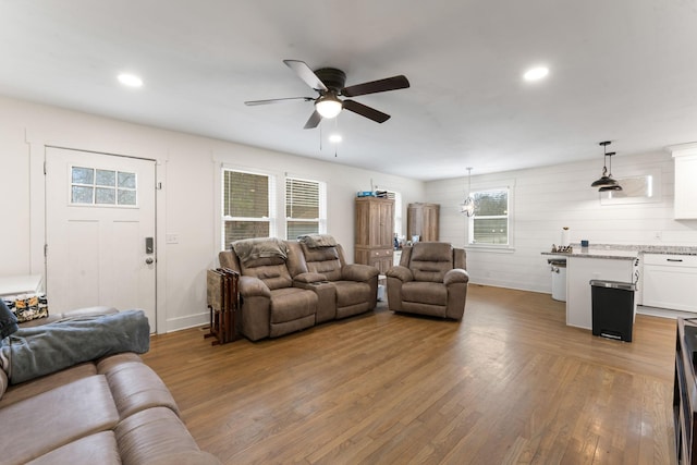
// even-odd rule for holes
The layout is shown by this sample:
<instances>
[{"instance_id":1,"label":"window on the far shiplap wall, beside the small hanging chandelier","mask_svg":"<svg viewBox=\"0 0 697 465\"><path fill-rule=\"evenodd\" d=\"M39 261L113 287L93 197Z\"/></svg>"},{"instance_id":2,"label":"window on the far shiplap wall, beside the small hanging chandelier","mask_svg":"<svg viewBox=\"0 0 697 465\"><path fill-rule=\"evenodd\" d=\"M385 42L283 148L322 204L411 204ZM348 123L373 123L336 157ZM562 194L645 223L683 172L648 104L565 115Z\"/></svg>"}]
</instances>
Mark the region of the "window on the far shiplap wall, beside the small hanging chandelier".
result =
<instances>
[{"instance_id":1,"label":"window on the far shiplap wall, beside the small hanging chandelier","mask_svg":"<svg viewBox=\"0 0 697 465\"><path fill-rule=\"evenodd\" d=\"M472 193L476 207L469 217L469 245L511 245L509 194L508 187Z\"/></svg>"}]
</instances>

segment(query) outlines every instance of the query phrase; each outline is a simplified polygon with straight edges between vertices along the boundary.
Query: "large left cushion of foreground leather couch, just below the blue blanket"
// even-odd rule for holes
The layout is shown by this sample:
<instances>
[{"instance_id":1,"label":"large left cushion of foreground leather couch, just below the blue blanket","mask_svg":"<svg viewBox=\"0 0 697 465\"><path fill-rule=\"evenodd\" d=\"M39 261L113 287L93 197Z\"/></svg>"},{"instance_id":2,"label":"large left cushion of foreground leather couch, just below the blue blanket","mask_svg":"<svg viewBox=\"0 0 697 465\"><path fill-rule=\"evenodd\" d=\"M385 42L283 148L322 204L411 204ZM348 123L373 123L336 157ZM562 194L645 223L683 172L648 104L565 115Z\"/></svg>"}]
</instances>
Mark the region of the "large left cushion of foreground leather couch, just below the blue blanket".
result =
<instances>
[{"instance_id":1,"label":"large left cushion of foreground leather couch, just below the blue blanket","mask_svg":"<svg viewBox=\"0 0 697 465\"><path fill-rule=\"evenodd\" d=\"M0 408L0 425L8 426L0 435L2 463L26 463L77 439L112 429L118 421L119 413L103 376L73 381Z\"/></svg>"}]
</instances>

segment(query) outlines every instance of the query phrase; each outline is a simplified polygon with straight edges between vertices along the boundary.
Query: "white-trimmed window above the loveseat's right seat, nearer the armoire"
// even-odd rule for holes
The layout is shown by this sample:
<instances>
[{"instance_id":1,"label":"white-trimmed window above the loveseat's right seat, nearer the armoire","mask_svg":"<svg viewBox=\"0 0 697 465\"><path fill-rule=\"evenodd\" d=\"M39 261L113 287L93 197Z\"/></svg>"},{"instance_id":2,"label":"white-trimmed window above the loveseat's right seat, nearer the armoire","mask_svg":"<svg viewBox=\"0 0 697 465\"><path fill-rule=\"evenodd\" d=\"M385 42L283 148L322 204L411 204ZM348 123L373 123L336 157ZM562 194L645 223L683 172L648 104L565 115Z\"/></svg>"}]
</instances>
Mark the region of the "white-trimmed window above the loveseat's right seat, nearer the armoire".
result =
<instances>
[{"instance_id":1,"label":"white-trimmed window above the loveseat's right seat, nearer the armoire","mask_svg":"<svg viewBox=\"0 0 697 465\"><path fill-rule=\"evenodd\" d=\"M285 179L285 237L327 232L327 187L318 181Z\"/></svg>"}]
</instances>

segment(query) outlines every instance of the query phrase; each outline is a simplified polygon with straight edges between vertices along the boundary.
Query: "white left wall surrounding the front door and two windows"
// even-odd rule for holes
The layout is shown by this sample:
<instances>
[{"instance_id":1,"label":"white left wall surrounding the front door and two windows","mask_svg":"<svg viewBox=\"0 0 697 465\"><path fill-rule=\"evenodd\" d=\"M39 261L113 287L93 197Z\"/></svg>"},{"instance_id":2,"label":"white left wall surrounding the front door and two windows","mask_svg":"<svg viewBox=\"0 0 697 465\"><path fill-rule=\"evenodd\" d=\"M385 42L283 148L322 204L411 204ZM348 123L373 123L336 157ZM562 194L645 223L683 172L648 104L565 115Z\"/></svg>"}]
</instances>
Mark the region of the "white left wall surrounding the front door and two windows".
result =
<instances>
[{"instance_id":1,"label":"white left wall surrounding the front door and two windows","mask_svg":"<svg viewBox=\"0 0 697 465\"><path fill-rule=\"evenodd\" d=\"M419 181L348 168L333 159L302 158L0 97L0 277L44 273L42 173L30 160L45 145L158 160L163 185L158 193L158 332L208 318L205 272L217 266L220 248L221 163L264 169L279 182L286 172L327 182L328 231L345 247L348 260L357 191L369 189L372 182L401 192L403 209L425 196ZM164 244L166 233L179 234L179 243Z\"/></svg>"}]
</instances>

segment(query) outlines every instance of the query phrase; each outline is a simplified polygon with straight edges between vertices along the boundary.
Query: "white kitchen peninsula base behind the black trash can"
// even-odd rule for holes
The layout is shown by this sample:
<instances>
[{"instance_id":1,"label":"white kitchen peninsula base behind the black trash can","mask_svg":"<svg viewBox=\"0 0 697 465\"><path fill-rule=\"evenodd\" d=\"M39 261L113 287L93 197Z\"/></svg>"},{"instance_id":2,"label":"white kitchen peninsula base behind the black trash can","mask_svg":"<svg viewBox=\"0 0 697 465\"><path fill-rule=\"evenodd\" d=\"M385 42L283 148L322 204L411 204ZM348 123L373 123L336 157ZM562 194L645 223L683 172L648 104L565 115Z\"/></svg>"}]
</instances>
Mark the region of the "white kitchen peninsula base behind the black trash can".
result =
<instances>
[{"instance_id":1,"label":"white kitchen peninsula base behind the black trash can","mask_svg":"<svg viewBox=\"0 0 697 465\"><path fill-rule=\"evenodd\" d=\"M592 329L590 280L635 281L636 258L571 256L566 259L566 325Z\"/></svg>"}]
</instances>

